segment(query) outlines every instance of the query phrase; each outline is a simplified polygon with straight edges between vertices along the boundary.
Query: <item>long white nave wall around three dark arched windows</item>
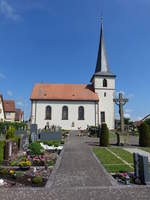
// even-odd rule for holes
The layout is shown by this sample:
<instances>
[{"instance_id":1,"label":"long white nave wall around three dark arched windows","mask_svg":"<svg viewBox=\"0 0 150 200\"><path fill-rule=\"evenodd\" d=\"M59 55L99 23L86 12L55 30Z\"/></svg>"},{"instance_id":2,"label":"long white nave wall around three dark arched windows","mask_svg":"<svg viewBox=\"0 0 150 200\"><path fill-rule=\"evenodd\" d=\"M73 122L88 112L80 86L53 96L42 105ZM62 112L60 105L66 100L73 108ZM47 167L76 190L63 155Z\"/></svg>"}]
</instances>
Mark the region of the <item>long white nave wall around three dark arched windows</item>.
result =
<instances>
[{"instance_id":1,"label":"long white nave wall around three dark arched windows","mask_svg":"<svg viewBox=\"0 0 150 200\"><path fill-rule=\"evenodd\" d=\"M83 101L37 101L32 103L32 123L37 123L38 128L49 125L61 126L63 129L86 129L87 125L95 125L96 105L95 102ZM45 108L52 108L52 119L45 120ZM62 120L62 107L68 106L68 120ZM84 107L84 120L78 120L78 108ZM36 114L35 114L36 113ZM74 127L72 127L74 123Z\"/></svg>"}]
</instances>

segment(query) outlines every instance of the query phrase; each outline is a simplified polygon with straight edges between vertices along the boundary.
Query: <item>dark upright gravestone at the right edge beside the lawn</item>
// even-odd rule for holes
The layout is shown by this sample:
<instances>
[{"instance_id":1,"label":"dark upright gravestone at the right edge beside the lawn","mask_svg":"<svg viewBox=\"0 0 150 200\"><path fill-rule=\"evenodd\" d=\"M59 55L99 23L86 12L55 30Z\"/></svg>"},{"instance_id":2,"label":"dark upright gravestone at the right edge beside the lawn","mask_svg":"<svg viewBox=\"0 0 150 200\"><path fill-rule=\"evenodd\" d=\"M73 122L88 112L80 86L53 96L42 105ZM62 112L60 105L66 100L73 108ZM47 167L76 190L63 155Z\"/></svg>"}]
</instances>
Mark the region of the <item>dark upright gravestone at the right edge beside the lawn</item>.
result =
<instances>
[{"instance_id":1,"label":"dark upright gravestone at the right edge beside the lawn","mask_svg":"<svg viewBox=\"0 0 150 200\"><path fill-rule=\"evenodd\" d=\"M136 179L142 184L150 184L148 157L134 153L133 158Z\"/></svg>"}]
</instances>

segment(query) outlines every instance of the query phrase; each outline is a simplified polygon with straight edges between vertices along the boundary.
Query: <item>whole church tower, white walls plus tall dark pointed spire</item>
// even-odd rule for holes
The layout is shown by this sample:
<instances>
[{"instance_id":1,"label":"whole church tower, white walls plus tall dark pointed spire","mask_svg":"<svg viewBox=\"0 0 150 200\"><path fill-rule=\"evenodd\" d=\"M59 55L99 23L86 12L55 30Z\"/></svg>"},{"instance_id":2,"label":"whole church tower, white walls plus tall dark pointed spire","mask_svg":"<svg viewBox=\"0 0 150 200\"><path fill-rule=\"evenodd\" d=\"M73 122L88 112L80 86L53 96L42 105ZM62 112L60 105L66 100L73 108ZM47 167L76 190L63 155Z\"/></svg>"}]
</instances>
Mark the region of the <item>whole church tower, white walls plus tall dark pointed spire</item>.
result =
<instances>
[{"instance_id":1,"label":"whole church tower, white walls plus tall dark pointed spire","mask_svg":"<svg viewBox=\"0 0 150 200\"><path fill-rule=\"evenodd\" d=\"M98 124L107 123L109 129L114 129L115 121L115 78L110 72L104 44L103 19L101 19L100 43L95 73L91 79L95 93L99 96Z\"/></svg>"}]
</instances>

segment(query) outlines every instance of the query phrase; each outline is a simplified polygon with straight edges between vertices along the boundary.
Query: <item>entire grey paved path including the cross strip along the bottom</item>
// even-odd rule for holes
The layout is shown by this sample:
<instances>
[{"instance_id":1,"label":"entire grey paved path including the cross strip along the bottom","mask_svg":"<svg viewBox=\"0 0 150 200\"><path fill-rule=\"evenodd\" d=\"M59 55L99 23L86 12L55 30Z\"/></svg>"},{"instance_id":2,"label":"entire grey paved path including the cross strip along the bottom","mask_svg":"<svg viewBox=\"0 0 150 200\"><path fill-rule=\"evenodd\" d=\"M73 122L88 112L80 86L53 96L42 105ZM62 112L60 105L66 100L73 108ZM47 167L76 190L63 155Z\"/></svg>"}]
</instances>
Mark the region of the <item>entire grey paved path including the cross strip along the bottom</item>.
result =
<instances>
[{"instance_id":1,"label":"entire grey paved path including the cross strip along the bottom","mask_svg":"<svg viewBox=\"0 0 150 200\"><path fill-rule=\"evenodd\" d=\"M71 134L45 188L0 189L0 200L149 200L150 187L112 186L86 139Z\"/></svg>"}]
</instances>

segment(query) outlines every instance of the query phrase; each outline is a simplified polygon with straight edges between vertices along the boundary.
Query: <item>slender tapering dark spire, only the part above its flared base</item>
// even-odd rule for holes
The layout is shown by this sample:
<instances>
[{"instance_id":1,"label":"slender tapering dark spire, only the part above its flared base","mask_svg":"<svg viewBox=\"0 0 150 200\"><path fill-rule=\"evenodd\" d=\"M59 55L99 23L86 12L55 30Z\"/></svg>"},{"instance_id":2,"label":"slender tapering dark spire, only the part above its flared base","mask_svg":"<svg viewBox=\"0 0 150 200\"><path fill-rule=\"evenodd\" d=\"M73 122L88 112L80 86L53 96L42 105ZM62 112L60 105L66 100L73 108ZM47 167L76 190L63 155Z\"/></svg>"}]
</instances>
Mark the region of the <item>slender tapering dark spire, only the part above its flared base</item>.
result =
<instances>
[{"instance_id":1,"label":"slender tapering dark spire, only the part above its flared base","mask_svg":"<svg viewBox=\"0 0 150 200\"><path fill-rule=\"evenodd\" d=\"M101 17L101 34L95 73L109 72L109 65L104 44L103 17Z\"/></svg>"}]
</instances>

